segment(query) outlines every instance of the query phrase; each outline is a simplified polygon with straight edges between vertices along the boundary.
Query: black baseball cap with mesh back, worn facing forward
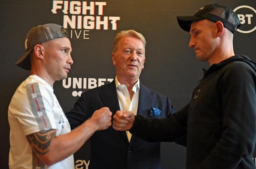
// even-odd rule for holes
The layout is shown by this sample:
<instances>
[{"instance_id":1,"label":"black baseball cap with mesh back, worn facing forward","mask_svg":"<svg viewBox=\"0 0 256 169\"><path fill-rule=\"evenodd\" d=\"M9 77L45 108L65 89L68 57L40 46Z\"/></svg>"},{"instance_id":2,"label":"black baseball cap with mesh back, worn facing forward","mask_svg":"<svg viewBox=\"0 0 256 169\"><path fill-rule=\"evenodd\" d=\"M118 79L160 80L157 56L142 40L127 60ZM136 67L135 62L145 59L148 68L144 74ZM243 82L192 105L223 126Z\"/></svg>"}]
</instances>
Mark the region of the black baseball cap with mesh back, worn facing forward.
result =
<instances>
[{"instance_id":1,"label":"black baseball cap with mesh back, worn facing forward","mask_svg":"<svg viewBox=\"0 0 256 169\"><path fill-rule=\"evenodd\" d=\"M190 25L193 21L201 19L208 19L213 22L220 21L233 34L241 26L237 14L223 4L208 4L200 8L194 16L177 16L177 19L180 27L187 32L190 31Z\"/></svg>"}]
</instances>

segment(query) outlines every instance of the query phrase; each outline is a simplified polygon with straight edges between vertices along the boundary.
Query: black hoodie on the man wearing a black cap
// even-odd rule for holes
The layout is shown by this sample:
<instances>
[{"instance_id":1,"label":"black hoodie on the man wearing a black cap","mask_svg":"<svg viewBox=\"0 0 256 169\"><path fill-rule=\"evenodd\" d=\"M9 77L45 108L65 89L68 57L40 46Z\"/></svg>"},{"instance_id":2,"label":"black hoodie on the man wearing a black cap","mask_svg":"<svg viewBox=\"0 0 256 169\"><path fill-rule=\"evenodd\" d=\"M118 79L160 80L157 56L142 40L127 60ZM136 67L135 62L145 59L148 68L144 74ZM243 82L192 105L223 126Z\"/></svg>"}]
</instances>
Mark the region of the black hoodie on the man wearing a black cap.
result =
<instances>
[{"instance_id":1,"label":"black hoodie on the man wearing a black cap","mask_svg":"<svg viewBox=\"0 0 256 169\"><path fill-rule=\"evenodd\" d=\"M255 169L255 84L256 64L235 55L204 70L180 111L168 119L136 116L130 132L149 142L185 137L187 169Z\"/></svg>"}]
</instances>

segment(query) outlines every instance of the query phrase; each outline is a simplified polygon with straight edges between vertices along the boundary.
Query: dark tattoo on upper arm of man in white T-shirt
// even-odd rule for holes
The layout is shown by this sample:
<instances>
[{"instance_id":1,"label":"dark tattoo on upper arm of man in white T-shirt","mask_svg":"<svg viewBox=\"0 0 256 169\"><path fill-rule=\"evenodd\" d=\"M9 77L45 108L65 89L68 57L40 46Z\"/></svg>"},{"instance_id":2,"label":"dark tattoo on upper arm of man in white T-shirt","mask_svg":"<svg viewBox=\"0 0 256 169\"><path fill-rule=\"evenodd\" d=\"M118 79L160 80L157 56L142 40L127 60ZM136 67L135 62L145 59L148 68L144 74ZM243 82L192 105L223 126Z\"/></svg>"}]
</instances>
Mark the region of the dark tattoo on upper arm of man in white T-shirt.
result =
<instances>
[{"instance_id":1,"label":"dark tattoo on upper arm of man in white T-shirt","mask_svg":"<svg viewBox=\"0 0 256 169\"><path fill-rule=\"evenodd\" d=\"M26 138L36 154L44 155L55 136L56 129L50 129L26 135Z\"/></svg>"}]
</instances>

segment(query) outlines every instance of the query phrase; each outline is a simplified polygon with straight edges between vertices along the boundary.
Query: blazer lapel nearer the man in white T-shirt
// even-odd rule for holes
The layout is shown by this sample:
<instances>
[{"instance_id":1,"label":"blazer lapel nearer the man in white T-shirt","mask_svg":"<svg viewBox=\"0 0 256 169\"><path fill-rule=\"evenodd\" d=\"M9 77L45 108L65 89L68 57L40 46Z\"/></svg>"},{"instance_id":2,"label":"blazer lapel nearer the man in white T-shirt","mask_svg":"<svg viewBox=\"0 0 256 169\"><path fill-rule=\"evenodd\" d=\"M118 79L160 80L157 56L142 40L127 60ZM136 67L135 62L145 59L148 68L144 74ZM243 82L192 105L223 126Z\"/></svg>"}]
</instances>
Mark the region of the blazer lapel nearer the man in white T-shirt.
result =
<instances>
[{"instance_id":1,"label":"blazer lapel nearer the man in white T-shirt","mask_svg":"<svg viewBox=\"0 0 256 169\"><path fill-rule=\"evenodd\" d=\"M108 107L110 111L112 111L112 117L113 117L116 114L116 111L120 110L117 92L116 92L115 79L109 84L103 86L102 90L103 92L100 94L100 98L102 99L102 102L105 104L105 106ZM126 131L119 131L119 132L123 135L124 139L127 142L129 142Z\"/></svg>"}]
</instances>

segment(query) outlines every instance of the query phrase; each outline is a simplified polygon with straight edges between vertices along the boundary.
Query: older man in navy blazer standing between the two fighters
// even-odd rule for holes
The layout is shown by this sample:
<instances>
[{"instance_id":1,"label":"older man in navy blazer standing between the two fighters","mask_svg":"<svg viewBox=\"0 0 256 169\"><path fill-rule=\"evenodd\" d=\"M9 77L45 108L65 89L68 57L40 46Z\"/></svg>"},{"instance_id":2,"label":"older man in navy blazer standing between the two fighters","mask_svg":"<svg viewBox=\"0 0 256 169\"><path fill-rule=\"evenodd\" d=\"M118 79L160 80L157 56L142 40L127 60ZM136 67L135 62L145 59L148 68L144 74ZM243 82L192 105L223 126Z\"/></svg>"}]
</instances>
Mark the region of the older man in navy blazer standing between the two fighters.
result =
<instances>
[{"instance_id":1,"label":"older man in navy blazer standing between the two fighters","mask_svg":"<svg viewBox=\"0 0 256 169\"><path fill-rule=\"evenodd\" d=\"M95 110L108 107L132 111L146 118L166 118L175 111L168 97L145 87L139 76L144 68L146 40L134 30L121 31L113 42L116 78L82 93L66 116L71 129L89 119ZM90 138L90 169L160 169L160 142L149 143L127 131L109 127Z\"/></svg>"}]
</instances>

